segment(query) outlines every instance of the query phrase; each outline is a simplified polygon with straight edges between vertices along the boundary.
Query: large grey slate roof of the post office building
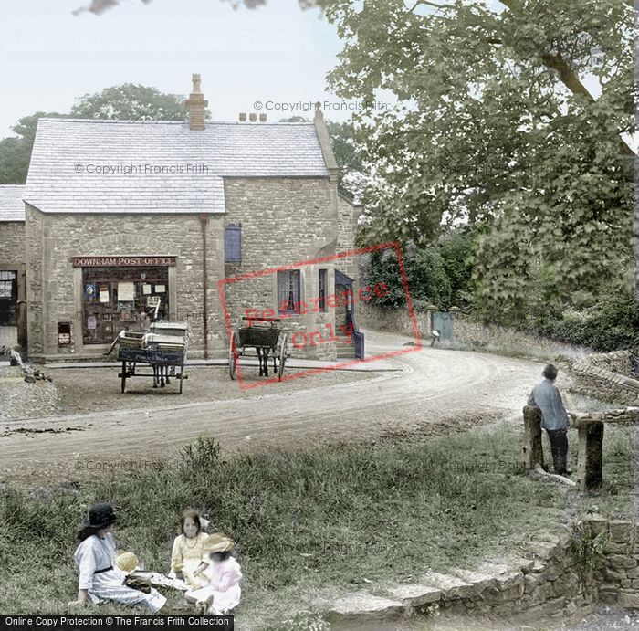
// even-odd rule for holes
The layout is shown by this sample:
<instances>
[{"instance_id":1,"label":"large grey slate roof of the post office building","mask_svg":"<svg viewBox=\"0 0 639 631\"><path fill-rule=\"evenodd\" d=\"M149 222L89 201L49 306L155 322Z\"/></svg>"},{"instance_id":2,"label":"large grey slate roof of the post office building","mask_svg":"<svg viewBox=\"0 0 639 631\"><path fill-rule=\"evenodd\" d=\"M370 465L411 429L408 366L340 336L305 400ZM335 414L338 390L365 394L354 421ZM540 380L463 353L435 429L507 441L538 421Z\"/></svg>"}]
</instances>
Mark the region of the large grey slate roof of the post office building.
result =
<instances>
[{"instance_id":1,"label":"large grey slate roof of the post office building","mask_svg":"<svg viewBox=\"0 0 639 631\"><path fill-rule=\"evenodd\" d=\"M225 176L328 174L312 122L191 131L182 121L43 118L24 199L44 213L221 213Z\"/></svg>"}]
</instances>

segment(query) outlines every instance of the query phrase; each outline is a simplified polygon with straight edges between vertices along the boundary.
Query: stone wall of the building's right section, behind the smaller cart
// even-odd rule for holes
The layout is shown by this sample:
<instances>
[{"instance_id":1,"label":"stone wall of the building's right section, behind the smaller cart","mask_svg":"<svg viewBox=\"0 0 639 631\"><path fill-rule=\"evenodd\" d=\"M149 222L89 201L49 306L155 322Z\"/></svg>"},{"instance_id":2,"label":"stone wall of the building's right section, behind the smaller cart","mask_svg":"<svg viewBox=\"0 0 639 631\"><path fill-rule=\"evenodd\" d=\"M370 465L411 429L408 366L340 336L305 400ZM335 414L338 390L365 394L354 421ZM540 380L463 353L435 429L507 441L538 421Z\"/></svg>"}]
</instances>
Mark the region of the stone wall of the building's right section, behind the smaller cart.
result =
<instances>
[{"instance_id":1,"label":"stone wall of the building's right section, behind the smaller cart","mask_svg":"<svg viewBox=\"0 0 639 631\"><path fill-rule=\"evenodd\" d=\"M337 192L328 178L225 178L225 203L226 223L242 226L242 261L225 266L229 279L246 275L226 284L227 308L235 325L246 310L277 312L276 268L335 254ZM309 307L310 299L319 295L320 268L328 270L327 289L334 292L334 267L333 260L299 266L301 300ZM267 269L273 272L256 274ZM334 311L312 312L311 307L306 315L293 315L279 322L288 331L293 356L336 358L335 342L328 342L330 326L335 323ZM310 343L311 333L316 334L314 344ZM293 336L298 347L290 344Z\"/></svg>"}]
</instances>

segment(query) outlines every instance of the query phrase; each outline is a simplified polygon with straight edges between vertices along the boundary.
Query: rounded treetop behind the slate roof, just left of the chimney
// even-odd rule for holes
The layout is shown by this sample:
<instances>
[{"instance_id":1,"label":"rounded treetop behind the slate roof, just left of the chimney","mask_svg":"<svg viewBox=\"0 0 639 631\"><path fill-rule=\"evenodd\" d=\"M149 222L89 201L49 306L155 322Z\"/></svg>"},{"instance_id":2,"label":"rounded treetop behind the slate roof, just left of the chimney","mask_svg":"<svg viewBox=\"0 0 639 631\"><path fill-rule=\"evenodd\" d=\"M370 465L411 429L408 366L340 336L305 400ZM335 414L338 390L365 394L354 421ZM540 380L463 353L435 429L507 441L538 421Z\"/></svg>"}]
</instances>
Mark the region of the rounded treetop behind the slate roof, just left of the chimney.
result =
<instances>
[{"instance_id":1,"label":"rounded treetop behind the slate roof, just left of the chimney","mask_svg":"<svg viewBox=\"0 0 639 631\"><path fill-rule=\"evenodd\" d=\"M71 116L121 121L183 121L186 106L180 95L124 83L96 94L85 94L71 108Z\"/></svg>"}]
</instances>

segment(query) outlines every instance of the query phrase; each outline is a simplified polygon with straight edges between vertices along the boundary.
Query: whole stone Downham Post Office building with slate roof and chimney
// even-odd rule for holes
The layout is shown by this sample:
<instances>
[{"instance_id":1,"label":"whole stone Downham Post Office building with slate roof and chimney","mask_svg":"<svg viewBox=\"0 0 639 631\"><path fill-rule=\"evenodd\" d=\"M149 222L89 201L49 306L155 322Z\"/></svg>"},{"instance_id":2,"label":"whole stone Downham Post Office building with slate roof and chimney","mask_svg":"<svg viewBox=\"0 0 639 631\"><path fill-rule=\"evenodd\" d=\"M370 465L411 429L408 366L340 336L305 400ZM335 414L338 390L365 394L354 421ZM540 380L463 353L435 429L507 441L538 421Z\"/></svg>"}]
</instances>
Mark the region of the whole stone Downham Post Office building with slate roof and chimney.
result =
<instances>
[{"instance_id":1,"label":"whole stone Downham Post Office building with slate roof and chimney","mask_svg":"<svg viewBox=\"0 0 639 631\"><path fill-rule=\"evenodd\" d=\"M225 357L225 310L234 325L271 310L298 340L320 331L293 354L336 358L329 333L352 300L328 298L357 266L331 257L352 249L358 209L338 194L321 111L208 122L197 75L186 105L186 122L38 121L24 190L32 359L95 357L151 314L189 321L191 356Z\"/></svg>"}]
</instances>

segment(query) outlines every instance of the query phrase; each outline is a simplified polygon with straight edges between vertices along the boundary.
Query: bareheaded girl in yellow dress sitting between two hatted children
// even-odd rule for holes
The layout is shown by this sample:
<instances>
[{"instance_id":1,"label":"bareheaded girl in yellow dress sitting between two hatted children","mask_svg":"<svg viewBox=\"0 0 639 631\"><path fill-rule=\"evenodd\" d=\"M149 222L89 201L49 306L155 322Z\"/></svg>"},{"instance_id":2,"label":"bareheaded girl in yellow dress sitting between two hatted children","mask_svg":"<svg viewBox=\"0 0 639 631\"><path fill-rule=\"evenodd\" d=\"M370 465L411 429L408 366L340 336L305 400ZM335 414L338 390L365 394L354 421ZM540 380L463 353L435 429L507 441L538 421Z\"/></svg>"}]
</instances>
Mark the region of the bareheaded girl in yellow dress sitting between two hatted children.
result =
<instances>
[{"instance_id":1,"label":"bareheaded girl in yellow dress sitting between two hatted children","mask_svg":"<svg viewBox=\"0 0 639 631\"><path fill-rule=\"evenodd\" d=\"M171 552L169 576L184 581L191 589L199 589L209 583L205 573L208 557L204 553L204 542L208 535L203 531L202 522L196 510L184 510Z\"/></svg>"}]
</instances>

